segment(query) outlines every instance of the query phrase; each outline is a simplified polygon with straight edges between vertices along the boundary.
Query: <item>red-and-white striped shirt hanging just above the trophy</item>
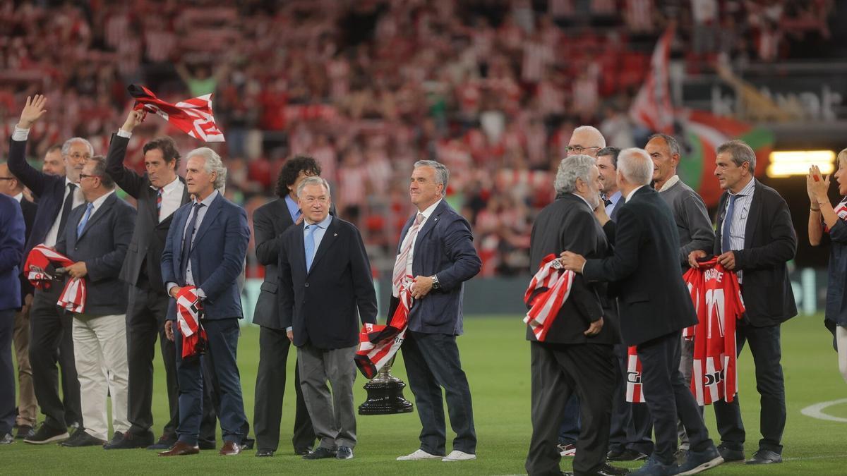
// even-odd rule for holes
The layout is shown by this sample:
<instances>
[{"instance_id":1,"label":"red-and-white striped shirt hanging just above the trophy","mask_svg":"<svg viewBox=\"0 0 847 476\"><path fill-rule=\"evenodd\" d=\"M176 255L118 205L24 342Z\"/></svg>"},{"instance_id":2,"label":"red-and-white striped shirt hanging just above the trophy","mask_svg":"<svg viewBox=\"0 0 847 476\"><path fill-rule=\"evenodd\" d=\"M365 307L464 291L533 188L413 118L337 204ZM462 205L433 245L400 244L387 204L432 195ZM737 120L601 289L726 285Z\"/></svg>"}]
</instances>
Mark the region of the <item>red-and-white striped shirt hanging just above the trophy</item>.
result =
<instances>
[{"instance_id":1,"label":"red-and-white striped shirt hanging just above the trophy","mask_svg":"<svg viewBox=\"0 0 847 476\"><path fill-rule=\"evenodd\" d=\"M412 293L407 289L408 283L409 280L404 280L400 285L400 302L385 325L366 323L359 331L359 348L353 360L368 379L373 379L379 369L390 362L406 339L409 309L412 308Z\"/></svg>"}]
</instances>

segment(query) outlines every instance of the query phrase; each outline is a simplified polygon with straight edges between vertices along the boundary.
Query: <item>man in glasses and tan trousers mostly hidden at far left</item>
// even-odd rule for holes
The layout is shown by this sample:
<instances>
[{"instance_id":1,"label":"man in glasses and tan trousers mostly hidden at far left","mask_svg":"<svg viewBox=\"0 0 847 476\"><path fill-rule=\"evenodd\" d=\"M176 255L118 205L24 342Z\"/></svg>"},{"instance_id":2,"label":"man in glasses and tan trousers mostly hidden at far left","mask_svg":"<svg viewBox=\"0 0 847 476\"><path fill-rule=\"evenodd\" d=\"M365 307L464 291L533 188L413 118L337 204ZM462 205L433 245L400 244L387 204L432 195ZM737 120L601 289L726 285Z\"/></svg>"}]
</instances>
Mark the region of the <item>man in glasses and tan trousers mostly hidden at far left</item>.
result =
<instances>
[{"instance_id":1,"label":"man in glasses and tan trousers mostly hidden at far left","mask_svg":"<svg viewBox=\"0 0 847 476\"><path fill-rule=\"evenodd\" d=\"M32 223L36 219L35 203L30 202L24 196L24 184L8 171L8 164L0 163L0 193L11 196L20 204L20 210L24 214L26 225L25 240L30 238ZM14 313L14 357L18 362L18 416L14 420L14 426L18 429L15 438L24 438L36 434L36 412L38 403L36 401L36 390L32 388L32 367L30 366L30 305L32 304L32 293L34 288L30 281L20 274L20 310Z\"/></svg>"}]
</instances>

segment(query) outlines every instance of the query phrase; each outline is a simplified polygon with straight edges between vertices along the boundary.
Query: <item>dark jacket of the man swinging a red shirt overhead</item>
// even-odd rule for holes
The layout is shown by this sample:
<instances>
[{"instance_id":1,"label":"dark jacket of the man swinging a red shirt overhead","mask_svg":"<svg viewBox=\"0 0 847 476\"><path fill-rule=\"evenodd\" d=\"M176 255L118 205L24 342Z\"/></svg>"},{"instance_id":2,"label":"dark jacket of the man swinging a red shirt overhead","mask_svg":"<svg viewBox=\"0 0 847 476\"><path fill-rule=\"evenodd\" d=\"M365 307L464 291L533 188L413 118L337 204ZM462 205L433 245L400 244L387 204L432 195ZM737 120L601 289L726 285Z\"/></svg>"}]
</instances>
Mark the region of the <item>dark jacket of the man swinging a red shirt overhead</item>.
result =
<instances>
[{"instance_id":1,"label":"dark jacket of the man swinging a red shirt overhead","mask_svg":"<svg viewBox=\"0 0 847 476\"><path fill-rule=\"evenodd\" d=\"M156 206L157 192L150 187L147 174L139 175L124 167L126 145L129 141L126 137L113 134L106 156L106 172L112 177L114 183L135 198L138 203L136 230L132 234L124 265L120 268L120 279L130 285L147 285L151 291L164 293L162 250L168 238L168 230L174 214L172 213L159 223ZM185 183L182 177L179 177L179 180ZM188 187L185 187L180 204L185 205L189 200L191 197L188 194ZM146 284L140 281L146 281Z\"/></svg>"}]
</instances>

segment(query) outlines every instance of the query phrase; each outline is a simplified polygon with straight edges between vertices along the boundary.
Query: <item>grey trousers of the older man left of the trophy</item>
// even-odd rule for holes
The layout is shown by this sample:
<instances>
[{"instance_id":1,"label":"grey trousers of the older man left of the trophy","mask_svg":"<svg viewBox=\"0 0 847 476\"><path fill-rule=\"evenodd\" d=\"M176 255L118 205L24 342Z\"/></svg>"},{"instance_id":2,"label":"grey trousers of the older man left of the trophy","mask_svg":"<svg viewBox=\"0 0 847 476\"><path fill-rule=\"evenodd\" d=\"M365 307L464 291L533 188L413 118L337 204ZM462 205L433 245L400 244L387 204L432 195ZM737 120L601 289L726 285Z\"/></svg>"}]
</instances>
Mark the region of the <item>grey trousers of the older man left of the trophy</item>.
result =
<instances>
[{"instance_id":1,"label":"grey trousers of the older man left of the trophy","mask_svg":"<svg viewBox=\"0 0 847 476\"><path fill-rule=\"evenodd\" d=\"M356 346L318 349L297 347L300 388L320 446L335 450L356 446L356 412L353 383L356 381ZM332 392L326 382L332 385Z\"/></svg>"}]
</instances>

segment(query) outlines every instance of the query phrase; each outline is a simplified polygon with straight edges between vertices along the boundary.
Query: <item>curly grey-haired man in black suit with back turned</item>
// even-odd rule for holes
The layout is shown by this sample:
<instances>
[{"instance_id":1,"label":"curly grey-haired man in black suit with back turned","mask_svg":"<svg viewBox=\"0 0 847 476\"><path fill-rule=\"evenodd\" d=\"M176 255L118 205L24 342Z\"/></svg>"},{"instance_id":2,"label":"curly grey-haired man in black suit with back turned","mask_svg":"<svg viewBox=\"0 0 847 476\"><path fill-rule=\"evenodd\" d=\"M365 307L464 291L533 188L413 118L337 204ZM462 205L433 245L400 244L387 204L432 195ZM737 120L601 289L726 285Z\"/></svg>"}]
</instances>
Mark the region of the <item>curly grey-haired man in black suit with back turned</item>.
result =
<instances>
[{"instance_id":1,"label":"curly grey-haired man in black suit with back turned","mask_svg":"<svg viewBox=\"0 0 847 476\"><path fill-rule=\"evenodd\" d=\"M556 173L556 201L541 210L533 226L531 273L538 271L544 257L558 256L564 250L587 257L606 256L606 235L594 216L600 205L599 177L595 158L572 155L562 159ZM626 473L606 464L616 376L612 345L620 336L616 306L606 303L604 308L604 301L605 284L588 283L577 276L544 341L527 328L533 423L526 461L529 474L559 473L561 456L556 441L560 415L573 393L580 396L582 412L573 473Z\"/></svg>"}]
</instances>

